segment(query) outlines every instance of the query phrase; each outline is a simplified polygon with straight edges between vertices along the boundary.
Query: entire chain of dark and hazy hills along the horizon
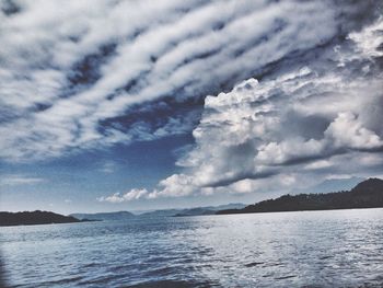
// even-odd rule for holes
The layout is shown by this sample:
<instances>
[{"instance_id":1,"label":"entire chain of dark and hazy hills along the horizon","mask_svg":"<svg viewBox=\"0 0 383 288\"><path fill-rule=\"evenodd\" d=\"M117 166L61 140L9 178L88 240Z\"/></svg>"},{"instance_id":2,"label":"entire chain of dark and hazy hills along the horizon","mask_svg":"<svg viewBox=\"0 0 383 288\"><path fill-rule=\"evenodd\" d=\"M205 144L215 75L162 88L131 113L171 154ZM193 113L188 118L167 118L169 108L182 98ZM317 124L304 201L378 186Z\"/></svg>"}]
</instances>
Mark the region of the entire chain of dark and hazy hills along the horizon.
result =
<instances>
[{"instance_id":1,"label":"entire chain of dark and hazy hills along the horizon","mask_svg":"<svg viewBox=\"0 0 383 288\"><path fill-rule=\"evenodd\" d=\"M235 209L219 209L221 207L241 207ZM277 212L300 210L329 210L353 208L383 208L383 180L372 177L358 183L349 191L282 195L252 205L227 204L220 206L195 207L188 209L163 209L134 215L129 211L71 214L63 216L51 211L0 211L0 227L21 224L72 223L93 220L127 220L138 217L182 217L202 215Z\"/></svg>"}]
</instances>

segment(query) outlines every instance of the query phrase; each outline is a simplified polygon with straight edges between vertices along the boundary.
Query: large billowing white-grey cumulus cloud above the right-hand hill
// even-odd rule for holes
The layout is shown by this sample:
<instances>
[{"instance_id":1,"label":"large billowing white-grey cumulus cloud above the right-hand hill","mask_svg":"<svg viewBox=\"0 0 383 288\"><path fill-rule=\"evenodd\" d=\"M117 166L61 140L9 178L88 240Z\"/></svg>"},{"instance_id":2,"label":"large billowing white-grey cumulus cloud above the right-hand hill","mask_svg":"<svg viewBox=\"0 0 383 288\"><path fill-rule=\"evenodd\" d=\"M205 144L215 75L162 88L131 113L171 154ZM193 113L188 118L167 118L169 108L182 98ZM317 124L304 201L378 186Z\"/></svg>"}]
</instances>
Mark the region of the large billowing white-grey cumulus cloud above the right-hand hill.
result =
<instances>
[{"instance_id":1,"label":"large billowing white-grey cumulus cloud above the right-hand hill","mask_svg":"<svg viewBox=\"0 0 383 288\"><path fill-rule=\"evenodd\" d=\"M184 173L141 197L289 191L383 172L383 18L263 81L208 96ZM129 194L129 192L127 193Z\"/></svg>"}]
</instances>

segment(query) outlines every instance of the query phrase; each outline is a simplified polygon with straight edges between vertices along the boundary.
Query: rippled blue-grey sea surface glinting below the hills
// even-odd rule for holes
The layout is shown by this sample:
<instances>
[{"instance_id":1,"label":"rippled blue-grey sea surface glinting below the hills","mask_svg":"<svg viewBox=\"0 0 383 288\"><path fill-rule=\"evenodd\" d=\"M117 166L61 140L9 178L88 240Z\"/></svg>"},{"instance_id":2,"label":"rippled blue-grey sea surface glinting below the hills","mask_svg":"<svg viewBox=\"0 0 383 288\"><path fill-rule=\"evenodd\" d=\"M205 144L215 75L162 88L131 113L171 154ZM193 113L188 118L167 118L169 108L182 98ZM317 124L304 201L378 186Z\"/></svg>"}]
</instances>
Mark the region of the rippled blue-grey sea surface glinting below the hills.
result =
<instances>
[{"instance_id":1,"label":"rippled blue-grey sea surface glinting below the hills","mask_svg":"<svg viewBox=\"0 0 383 288\"><path fill-rule=\"evenodd\" d=\"M10 287L383 287L383 209L0 232Z\"/></svg>"}]
</instances>

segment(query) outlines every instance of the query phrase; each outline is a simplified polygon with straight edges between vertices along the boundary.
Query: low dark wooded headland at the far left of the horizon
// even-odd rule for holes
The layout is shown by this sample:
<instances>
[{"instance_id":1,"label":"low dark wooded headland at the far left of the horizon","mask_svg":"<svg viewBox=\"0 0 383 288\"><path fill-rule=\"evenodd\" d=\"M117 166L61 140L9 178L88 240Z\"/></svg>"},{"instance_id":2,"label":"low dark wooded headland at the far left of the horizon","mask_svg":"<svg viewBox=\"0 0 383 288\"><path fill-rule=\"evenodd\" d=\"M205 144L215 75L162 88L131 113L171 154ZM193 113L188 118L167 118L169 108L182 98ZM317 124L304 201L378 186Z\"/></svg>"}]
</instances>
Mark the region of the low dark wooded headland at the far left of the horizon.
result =
<instances>
[{"instance_id":1,"label":"low dark wooded headland at the far left of the horizon","mask_svg":"<svg viewBox=\"0 0 383 288\"><path fill-rule=\"evenodd\" d=\"M71 216L49 211L0 212L0 226L50 224L81 222Z\"/></svg>"}]
</instances>

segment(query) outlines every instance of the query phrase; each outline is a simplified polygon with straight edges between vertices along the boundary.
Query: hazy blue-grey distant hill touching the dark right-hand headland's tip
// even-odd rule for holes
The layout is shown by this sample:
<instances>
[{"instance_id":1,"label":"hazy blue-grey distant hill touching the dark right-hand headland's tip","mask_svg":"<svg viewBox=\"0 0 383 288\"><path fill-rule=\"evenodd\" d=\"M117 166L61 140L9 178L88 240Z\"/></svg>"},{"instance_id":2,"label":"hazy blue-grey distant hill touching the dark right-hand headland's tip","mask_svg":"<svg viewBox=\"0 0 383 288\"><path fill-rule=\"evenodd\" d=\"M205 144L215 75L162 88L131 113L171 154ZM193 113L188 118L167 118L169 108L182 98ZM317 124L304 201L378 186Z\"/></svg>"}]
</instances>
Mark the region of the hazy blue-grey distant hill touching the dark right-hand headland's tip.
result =
<instances>
[{"instance_id":1,"label":"hazy blue-grey distant hill touching the dark right-hand headland's tip","mask_svg":"<svg viewBox=\"0 0 383 288\"><path fill-rule=\"evenodd\" d=\"M139 215L140 217L182 217L182 216L202 216L213 215L216 211L223 209L241 209L246 207L242 203L231 203L219 206L195 207L188 209L162 209Z\"/></svg>"}]
</instances>

